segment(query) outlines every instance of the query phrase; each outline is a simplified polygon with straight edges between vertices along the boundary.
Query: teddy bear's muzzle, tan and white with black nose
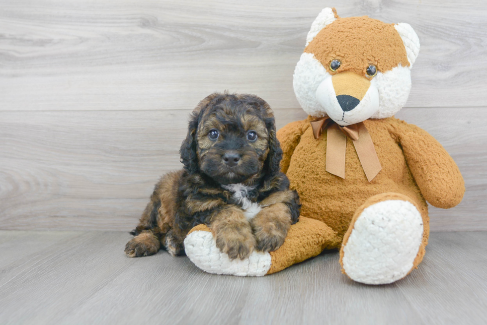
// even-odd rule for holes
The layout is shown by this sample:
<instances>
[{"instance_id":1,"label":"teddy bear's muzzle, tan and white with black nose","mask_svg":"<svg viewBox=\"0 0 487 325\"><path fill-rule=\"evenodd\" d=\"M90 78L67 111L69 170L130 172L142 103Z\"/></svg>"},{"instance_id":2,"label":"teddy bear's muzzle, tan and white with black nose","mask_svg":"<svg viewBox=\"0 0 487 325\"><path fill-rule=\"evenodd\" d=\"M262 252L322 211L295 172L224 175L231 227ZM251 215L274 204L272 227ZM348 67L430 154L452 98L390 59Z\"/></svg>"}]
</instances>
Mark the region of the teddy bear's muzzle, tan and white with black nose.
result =
<instances>
[{"instance_id":1,"label":"teddy bear's muzzle, tan and white with black nose","mask_svg":"<svg viewBox=\"0 0 487 325\"><path fill-rule=\"evenodd\" d=\"M377 87L349 71L325 78L316 90L316 100L342 127L365 121L379 110Z\"/></svg>"}]
</instances>

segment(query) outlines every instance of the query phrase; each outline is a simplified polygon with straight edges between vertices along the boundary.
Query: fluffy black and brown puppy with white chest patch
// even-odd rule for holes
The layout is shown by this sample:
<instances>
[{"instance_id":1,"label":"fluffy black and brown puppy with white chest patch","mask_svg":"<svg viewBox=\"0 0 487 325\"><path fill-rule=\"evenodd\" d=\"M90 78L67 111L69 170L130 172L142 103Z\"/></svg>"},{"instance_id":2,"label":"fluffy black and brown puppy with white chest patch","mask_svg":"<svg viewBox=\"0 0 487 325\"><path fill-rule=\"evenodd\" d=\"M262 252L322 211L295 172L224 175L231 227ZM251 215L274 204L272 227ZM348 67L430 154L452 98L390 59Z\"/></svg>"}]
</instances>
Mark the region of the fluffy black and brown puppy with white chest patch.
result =
<instances>
[{"instance_id":1,"label":"fluffy black and brown puppy with white chest patch","mask_svg":"<svg viewBox=\"0 0 487 325\"><path fill-rule=\"evenodd\" d=\"M183 170L156 184L129 257L160 248L183 255L191 228L206 224L230 259L274 251L299 218L300 203L280 172L282 150L269 105L254 95L214 93L190 116L180 149Z\"/></svg>"}]
</instances>

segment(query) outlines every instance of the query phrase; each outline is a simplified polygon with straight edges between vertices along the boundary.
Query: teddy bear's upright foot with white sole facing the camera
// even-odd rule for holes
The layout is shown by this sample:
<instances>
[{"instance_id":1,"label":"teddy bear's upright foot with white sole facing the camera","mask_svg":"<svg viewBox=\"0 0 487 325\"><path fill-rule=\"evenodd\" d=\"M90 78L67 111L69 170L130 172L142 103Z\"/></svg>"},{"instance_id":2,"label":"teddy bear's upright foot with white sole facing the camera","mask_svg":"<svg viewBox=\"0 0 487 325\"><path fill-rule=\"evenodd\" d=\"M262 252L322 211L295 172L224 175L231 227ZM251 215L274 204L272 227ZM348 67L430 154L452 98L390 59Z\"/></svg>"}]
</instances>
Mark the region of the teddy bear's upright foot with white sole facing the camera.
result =
<instances>
[{"instance_id":1,"label":"teddy bear's upright foot with white sole facing the camera","mask_svg":"<svg viewBox=\"0 0 487 325\"><path fill-rule=\"evenodd\" d=\"M361 283L392 283L419 264L424 246L417 205L406 195L374 195L356 210L343 237L342 272Z\"/></svg>"}]
</instances>

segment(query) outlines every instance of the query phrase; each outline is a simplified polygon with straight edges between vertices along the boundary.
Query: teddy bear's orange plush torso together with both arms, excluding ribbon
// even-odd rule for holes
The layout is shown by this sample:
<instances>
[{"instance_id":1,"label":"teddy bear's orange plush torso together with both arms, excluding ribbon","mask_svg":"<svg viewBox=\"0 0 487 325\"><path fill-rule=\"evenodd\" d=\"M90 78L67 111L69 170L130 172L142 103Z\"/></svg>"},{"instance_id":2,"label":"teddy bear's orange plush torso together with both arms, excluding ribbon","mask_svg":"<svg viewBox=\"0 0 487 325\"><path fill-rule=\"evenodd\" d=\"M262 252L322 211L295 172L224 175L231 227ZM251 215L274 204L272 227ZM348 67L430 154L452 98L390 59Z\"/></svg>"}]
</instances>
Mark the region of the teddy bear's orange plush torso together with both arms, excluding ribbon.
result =
<instances>
[{"instance_id":1,"label":"teddy bear's orange plush torso together with both arms, excluding ribbon","mask_svg":"<svg viewBox=\"0 0 487 325\"><path fill-rule=\"evenodd\" d=\"M336 245L329 248L340 248L352 217L366 207L359 208L369 197L391 192L403 195L423 218L423 242L414 261L417 266L429 236L425 199L434 206L449 208L457 205L465 193L462 175L453 159L438 141L414 125L395 118L370 119L364 124L382 171L369 183L347 138L345 179L342 179L325 171L326 133L315 139L309 127L311 120L309 117L290 123L277 132L284 152L281 167L289 177L290 188L300 195L301 215L320 220L336 231L336 238L329 239ZM379 201L384 199L387 197L379 197Z\"/></svg>"}]
</instances>

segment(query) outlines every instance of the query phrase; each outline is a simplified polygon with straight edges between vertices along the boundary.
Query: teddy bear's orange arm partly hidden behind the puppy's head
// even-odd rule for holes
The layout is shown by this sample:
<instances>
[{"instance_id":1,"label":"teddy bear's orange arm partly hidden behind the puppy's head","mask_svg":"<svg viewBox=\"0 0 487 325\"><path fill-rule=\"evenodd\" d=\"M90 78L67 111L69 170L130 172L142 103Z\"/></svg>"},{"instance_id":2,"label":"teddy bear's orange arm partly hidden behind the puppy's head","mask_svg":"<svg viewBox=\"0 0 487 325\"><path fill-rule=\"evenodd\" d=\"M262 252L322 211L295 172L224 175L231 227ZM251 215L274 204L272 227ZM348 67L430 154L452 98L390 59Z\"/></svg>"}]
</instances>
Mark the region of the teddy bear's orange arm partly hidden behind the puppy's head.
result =
<instances>
[{"instance_id":1,"label":"teddy bear's orange arm partly hidden behind the puppy's head","mask_svg":"<svg viewBox=\"0 0 487 325\"><path fill-rule=\"evenodd\" d=\"M281 143L282 160L281 171L285 174L291 163L294 149L301 140L301 135L310 126L309 120L291 122L277 131L277 139Z\"/></svg>"}]
</instances>

